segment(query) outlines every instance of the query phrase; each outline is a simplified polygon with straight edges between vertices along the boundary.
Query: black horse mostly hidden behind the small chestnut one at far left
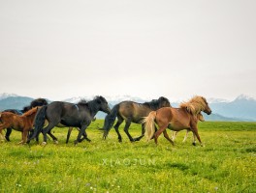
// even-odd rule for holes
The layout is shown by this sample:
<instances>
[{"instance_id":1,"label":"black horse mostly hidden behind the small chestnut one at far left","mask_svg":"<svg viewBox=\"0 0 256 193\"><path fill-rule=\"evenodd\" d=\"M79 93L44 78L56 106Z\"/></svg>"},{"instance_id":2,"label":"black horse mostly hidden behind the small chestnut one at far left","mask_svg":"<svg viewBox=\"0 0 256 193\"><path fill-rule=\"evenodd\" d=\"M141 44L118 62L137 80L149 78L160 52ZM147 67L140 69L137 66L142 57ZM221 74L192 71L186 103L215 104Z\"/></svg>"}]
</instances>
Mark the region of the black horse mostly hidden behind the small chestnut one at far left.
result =
<instances>
[{"instance_id":1,"label":"black horse mostly hidden behind the small chestnut one at far left","mask_svg":"<svg viewBox=\"0 0 256 193\"><path fill-rule=\"evenodd\" d=\"M36 106L43 106L43 105L48 105L48 101L45 98L37 98L34 99L30 102L30 104L28 106L23 107L22 110L17 110L17 109L6 109L3 112L11 112L14 113L16 115L22 115L23 113L29 111L30 109L36 107ZM5 138L7 141L10 142L10 135L12 133L12 127L6 128L6 135Z\"/></svg>"}]
</instances>

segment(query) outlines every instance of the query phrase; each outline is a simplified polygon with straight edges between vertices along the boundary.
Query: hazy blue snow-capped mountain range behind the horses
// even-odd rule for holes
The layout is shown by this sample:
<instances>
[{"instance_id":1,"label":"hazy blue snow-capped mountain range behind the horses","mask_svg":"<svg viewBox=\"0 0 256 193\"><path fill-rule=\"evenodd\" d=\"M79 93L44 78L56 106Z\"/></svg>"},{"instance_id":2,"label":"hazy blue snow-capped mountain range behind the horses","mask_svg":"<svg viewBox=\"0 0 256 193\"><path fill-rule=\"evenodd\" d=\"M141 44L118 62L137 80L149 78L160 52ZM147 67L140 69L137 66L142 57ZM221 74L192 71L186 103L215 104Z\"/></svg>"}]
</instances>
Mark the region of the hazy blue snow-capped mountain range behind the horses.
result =
<instances>
[{"instance_id":1,"label":"hazy blue snow-capped mountain range behind the horses","mask_svg":"<svg viewBox=\"0 0 256 193\"><path fill-rule=\"evenodd\" d=\"M93 96L79 96L64 99L63 101L77 103L80 99L90 100ZM145 100L140 97L134 96L106 96L107 100L112 107L114 104L124 101L132 100L137 102L144 102ZM0 111L5 109L22 109L34 98L28 96L17 96L16 94L0 94ZM48 99L50 102L51 100ZM148 101L148 100L146 100ZM233 101L228 101L221 98L209 98L209 106L212 110L211 115L204 115L207 121L244 121L255 122L256 121L256 99L240 95ZM172 106L177 107L179 102L170 101ZM105 113L99 112L96 117L98 119L104 119Z\"/></svg>"}]
</instances>

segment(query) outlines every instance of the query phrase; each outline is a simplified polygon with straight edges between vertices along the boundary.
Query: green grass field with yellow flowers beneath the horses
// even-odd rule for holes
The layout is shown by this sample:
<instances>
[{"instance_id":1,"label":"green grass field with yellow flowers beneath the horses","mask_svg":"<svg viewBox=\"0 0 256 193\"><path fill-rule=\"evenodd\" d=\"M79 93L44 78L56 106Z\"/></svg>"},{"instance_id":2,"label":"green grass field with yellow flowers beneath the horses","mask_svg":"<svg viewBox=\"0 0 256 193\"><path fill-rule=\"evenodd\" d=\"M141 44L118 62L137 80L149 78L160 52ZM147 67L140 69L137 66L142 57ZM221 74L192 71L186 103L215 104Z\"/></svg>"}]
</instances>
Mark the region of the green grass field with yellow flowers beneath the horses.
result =
<instances>
[{"instance_id":1,"label":"green grass field with yellow flowers beneath the horses","mask_svg":"<svg viewBox=\"0 0 256 193\"><path fill-rule=\"evenodd\" d=\"M65 144L67 128L53 128L59 144L21 146L20 132L0 144L0 192L256 192L256 123L199 124L205 147L182 143L173 147L163 136L130 143L123 132L117 142L114 129L106 141L97 125L87 129L91 143ZM141 125L132 124L132 136ZM168 131L171 134L171 131ZM42 142L42 138L41 138Z\"/></svg>"}]
</instances>

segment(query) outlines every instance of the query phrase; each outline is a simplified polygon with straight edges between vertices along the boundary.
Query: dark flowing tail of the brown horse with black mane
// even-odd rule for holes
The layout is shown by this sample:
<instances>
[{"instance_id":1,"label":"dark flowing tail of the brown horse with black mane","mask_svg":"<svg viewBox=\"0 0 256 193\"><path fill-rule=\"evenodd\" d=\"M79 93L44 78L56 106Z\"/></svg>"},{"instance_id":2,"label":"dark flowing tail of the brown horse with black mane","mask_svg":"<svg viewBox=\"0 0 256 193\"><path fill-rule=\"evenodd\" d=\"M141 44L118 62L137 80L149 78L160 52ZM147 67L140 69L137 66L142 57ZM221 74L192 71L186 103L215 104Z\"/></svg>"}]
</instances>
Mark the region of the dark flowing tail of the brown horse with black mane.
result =
<instances>
[{"instance_id":1,"label":"dark flowing tail of the brown horse with black mane","mask_svg":"<svg viewBox=\"0 0 256 193\"><path fill-rule=\"evenodd\" d=\"M104 126L103 126L103 130L104 130L104 136L103 138L106 139L106 137L109 134L109 131L112 128L112 124L115 121L115 118L117 116L118 113L118 109L119 109L119 104L116 104L112 107L112 111L109 115L106 116L105 118L105 122L104 122Z\"/></svg>"}]
</instances>

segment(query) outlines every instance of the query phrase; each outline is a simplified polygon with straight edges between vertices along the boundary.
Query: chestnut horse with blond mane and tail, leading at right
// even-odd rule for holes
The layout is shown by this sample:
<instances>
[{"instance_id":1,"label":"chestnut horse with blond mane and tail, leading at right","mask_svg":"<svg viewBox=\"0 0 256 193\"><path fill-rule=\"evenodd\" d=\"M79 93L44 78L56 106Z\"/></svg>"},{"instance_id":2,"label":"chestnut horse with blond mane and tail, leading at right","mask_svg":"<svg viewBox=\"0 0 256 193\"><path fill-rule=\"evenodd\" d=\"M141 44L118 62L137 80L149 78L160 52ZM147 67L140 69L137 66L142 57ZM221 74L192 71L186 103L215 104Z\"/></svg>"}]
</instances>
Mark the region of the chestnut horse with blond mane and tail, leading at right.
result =
<instances>
[{"instance_id":1,"label":"chestnut horse with blond mane and tail, leading at right","mask_svg":"<svg viewBox=\"0 0 256 193\"><path fill-rule=\"evenodd\" d=\"M155 144L159 135L163 132L164 137L173 145L174 142L169 138L166 128L179 131L183 129L191 130L197 137L201 145L202 141L198 134L198 115L201 111L211 113L208 101L203 96L194 96L187 102L182 102L179 108L163 107L157 111L152 111L144 118L145 136L147 141L154 138ZM155 131L155 124L159 129Z\"/></svg>"}]
</instances>

